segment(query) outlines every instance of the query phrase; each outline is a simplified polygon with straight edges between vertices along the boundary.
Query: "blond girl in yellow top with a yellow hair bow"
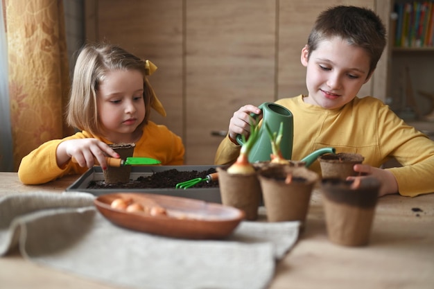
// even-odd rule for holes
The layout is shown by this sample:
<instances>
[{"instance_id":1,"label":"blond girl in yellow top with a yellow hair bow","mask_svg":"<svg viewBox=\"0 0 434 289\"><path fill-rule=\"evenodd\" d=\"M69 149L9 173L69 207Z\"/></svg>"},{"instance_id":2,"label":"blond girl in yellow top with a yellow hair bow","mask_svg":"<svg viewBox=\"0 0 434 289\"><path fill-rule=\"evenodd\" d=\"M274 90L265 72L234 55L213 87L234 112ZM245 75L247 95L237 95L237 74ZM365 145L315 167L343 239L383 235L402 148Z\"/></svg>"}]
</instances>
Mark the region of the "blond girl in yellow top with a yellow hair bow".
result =
<instances>
[{"instance_id":1,"label":"blond girl in yellow top with a yellow hair bow","mask_svg":"<svg viewBox=\"0 0 434 289\"><path fill-rule=\"evenodd\" d=\"M43 184L67 174L82 174L105 154L119 158L111 143L135 143L134 157L182 165L182 139L166 126L149 121L150 108L166 116L146 78L157 67L119 46L87 44L73 73L67 123L80 132L48 141L21 160L24 184ZM77 163L71 161L75 158Z\"/></svg>"}]
</instances>

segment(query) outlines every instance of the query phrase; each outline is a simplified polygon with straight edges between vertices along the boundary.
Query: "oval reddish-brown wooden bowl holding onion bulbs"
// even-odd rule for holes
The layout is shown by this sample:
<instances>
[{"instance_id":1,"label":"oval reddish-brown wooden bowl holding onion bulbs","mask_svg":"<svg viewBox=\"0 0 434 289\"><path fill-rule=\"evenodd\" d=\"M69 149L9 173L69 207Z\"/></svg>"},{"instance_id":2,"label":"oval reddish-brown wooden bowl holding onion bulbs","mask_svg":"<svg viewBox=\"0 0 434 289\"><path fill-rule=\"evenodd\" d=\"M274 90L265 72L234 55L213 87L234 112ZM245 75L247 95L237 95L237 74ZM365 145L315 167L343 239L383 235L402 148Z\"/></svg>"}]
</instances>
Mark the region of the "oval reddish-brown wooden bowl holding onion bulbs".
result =
<instances>
[{"instance_id":1,"label":"oval reddish-brown wooden bowl holding onion bulbs","mask_svg":"<svg viewBox=\"0 0 434 289\"><path fill-rule=\"evenodd\" d=\"M162 207L166 215L153 216L144 211L128 212L112 208L113 200L119 198L145 208ZM173 238L225 238L244 218L243 211L222 204L150 193L110 193L98 196L94 204L115 225Z\"/></svg>"}]
</instances>

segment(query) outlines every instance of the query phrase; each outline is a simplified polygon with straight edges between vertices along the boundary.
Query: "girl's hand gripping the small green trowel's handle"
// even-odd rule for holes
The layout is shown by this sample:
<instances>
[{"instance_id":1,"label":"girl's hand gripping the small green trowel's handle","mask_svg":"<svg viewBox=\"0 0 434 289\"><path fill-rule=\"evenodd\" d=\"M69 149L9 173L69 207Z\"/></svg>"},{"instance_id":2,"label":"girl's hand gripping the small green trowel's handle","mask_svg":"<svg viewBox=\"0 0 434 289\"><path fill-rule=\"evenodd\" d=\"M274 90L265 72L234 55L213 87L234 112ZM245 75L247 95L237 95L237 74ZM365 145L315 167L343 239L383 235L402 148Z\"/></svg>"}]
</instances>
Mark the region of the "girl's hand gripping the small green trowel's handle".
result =
<instances>
[{"instance_id":1,"label":"girl's hand gripping the small green trowel's handle","mask_svg":"<svg viewBox=\"0 0 434 289\"><path fill-rule=\"evenodd\" d=\"M119 154L112 150L107 143L98 141L98 139L71 139L69 141L62 141L56 150L56 157L58 166L62 167L67 161L74 157L77 163L87 168L92 168L95 164L95 159L98 160L101 168L107 168L105 155L110 157L119 158Z\"/></svg>"}]
</instances>

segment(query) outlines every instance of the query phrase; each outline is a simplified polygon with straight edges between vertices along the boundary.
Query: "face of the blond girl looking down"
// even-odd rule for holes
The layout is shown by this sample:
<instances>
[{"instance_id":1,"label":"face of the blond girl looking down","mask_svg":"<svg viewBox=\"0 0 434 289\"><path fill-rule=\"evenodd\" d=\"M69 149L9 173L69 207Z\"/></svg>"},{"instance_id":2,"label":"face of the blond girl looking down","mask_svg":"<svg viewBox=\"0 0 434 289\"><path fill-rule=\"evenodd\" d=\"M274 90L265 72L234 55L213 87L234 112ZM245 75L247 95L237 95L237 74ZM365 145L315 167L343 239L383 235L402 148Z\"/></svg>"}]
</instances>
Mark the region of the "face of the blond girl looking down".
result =
<instances>
[{"instance_id":1,"label":"face of the blond girl looking down","mask_svg":"<svg viewBox=\"0 0 434 289\"><path fill-rule=\"evenodd\" d=\"M114 143L135 142L145 118L144 78L137 70L108 71L96 93L104 137Z\"/></svg>"}]
</instances>

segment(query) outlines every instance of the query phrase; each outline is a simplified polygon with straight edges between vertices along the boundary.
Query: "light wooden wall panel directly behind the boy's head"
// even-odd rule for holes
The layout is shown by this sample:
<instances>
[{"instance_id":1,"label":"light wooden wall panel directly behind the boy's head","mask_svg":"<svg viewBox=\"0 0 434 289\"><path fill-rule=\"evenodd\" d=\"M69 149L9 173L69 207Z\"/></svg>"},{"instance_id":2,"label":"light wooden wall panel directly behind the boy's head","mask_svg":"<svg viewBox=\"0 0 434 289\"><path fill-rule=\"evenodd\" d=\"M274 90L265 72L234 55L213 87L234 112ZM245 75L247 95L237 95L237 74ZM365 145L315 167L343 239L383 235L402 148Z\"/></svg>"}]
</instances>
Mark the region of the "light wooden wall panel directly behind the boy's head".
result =
<instances>
[{"instance_id":1,"label":"light wooden wall panel directly behind the boy's head","mask_svg":"<svg viewBox=\"0 0 434 289\"><path fill-rule=\"evenodd\" d=\"M374 0L279 1L279 61L277 98L307 94L306 68L300 56L316 17L335 6L354 5L374 9ZM360 96L372 94L372 80L363 85Z\"/></svg>"}]
</instances>

